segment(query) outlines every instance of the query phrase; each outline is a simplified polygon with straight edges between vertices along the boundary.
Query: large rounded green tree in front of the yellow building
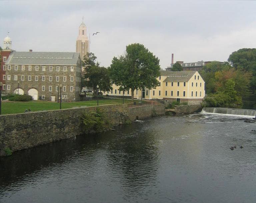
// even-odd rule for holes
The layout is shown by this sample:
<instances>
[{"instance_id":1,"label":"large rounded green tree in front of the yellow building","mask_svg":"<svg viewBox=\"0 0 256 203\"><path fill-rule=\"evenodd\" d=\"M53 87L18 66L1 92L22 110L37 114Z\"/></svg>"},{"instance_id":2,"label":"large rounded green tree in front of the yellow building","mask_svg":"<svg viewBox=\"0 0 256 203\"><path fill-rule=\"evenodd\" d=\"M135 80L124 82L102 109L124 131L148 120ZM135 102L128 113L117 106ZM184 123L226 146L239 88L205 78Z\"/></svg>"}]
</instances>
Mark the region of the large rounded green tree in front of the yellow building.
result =
<instances>
[{"instance_id":1,"label":"large rounded green tree in front of the yellow building","mask_svg":"<svg viewBox=\"0 0 256 203\"><path fill-rule=\"evenodd\" d=\"M112 81L124 90L131 89L132 102L134 90L152 89L159 86L157 77L160 76L159 59L148 51L142 44L126 46L126 53L119 59L113 58L109 68ZM120 88L120 90L123 90Z\"/></svg>"}]
</instances>

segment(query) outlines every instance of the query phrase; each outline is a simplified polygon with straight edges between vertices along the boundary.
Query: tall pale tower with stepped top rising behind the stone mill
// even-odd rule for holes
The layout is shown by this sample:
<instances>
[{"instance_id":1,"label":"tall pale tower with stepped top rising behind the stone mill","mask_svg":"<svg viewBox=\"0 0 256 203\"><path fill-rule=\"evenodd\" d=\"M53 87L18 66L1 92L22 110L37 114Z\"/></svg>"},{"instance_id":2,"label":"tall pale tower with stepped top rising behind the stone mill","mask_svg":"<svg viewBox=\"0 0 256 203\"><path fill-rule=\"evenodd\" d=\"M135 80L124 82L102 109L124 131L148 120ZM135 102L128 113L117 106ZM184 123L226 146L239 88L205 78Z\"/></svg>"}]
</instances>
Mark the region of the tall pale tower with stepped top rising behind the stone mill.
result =
<instances>
[{"instance_id":1,"label":"tall pale tower with stepped top rising behind the stone mill","mask_svg":"<svg viewBox=\"0 0 256 203\"><path fill-rule=\"evenodd\" d=\"M80 53L81 59L84 59L86 53L89 52L89 40L86 35L86 26L84 22L79 26L78 37L76 40L76 52Z\"/></svg>"}]
</instances>

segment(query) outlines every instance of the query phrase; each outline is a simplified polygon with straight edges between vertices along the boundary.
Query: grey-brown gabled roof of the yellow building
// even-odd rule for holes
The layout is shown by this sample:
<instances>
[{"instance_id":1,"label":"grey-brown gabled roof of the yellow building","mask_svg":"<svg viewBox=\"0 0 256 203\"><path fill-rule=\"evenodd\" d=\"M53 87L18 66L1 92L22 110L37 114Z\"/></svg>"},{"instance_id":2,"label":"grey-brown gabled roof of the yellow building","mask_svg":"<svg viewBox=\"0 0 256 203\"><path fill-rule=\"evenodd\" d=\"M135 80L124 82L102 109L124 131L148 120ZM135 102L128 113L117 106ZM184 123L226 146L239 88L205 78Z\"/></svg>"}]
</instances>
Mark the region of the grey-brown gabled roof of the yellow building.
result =
<instances>
[{"instance_id":1,"label":"grey-brown gabled roof of the yellow building","mask_svg":"<svg viewBox=\"0 0 256 203\"><path fill-rule=\"evenodd\" d=\"M187 82L196 71L160 71L161 76L167 76L163 82Z\"/></svg>"}]
</instances>

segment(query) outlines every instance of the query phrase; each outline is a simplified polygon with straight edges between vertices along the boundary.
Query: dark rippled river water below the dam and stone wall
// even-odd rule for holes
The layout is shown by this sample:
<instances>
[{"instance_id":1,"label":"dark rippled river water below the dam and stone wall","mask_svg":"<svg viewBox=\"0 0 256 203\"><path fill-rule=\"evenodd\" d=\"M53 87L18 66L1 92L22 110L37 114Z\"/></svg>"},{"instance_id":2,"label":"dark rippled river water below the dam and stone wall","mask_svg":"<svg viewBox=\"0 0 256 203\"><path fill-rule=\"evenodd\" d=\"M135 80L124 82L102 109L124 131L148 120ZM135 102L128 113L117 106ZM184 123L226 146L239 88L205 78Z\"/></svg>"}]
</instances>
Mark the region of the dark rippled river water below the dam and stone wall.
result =
<instances>
[{"instance_id":1,"label":"dark rippled river water below the dam and stone wall","mask_svg":"<svg viewBox=\"0 0 256 203\"><path fill-rule=\"evenodd\" d=\"M244 119L154 117L15 152L0 158L0 202L254 203L256 123Z\"/></svg>"}]
</instances>

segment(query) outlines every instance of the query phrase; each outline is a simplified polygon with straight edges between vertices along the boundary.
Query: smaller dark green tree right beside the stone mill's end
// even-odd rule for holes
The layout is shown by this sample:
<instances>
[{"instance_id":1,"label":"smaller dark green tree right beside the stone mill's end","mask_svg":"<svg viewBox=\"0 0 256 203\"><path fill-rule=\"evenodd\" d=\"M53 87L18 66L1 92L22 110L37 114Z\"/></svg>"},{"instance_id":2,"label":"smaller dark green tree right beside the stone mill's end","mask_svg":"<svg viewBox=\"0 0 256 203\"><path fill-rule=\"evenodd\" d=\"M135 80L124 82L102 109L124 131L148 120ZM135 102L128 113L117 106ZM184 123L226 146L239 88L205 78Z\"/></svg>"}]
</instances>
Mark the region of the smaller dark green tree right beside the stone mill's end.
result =
<instances>
[{"instance_id":1,"label":"smaller dark green tree right beside the stone mill's end","mask_svg":"<svg viewBox=\"0 0 256 203\"><path fill-rule=\"evenodd\" d=\"M93 53L87 53L82 62L84 67L83 85L92 88L94 95L97 94L97 85L101 91L110 91L112 89L108 69L100 67L96 59L97 57Z\"/></svg>"}]
</instances>

